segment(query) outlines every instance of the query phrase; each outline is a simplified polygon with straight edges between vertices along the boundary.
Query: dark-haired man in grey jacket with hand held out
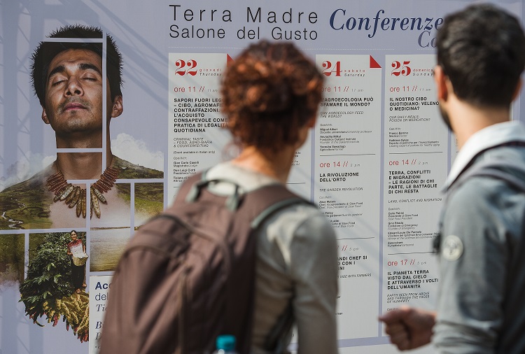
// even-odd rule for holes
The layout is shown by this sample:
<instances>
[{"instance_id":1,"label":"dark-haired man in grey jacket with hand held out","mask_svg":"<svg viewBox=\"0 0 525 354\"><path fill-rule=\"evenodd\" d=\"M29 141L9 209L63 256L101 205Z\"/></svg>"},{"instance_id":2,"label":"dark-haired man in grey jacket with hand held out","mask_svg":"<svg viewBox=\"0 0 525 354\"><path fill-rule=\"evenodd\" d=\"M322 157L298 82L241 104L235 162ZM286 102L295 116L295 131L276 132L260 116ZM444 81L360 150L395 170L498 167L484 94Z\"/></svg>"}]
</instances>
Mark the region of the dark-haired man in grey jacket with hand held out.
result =
<instances>
[{"instance_id":1,"label":"dark-haired man in grey jacket with hand held out","mask_svg":"<svg viewBox=\"0 0 525 354\"><path fill-rule=\"evenodd\" d=\"M525 127L509 121L524 67L524 31L499 8L469 6L438 30L437 97L460 150L435 243L437 311L380 318L400 350L432 341L439 353L525 353L525 196L507 178L468 175L493 164L525 179Z\"/></svg>"}]
</instances>

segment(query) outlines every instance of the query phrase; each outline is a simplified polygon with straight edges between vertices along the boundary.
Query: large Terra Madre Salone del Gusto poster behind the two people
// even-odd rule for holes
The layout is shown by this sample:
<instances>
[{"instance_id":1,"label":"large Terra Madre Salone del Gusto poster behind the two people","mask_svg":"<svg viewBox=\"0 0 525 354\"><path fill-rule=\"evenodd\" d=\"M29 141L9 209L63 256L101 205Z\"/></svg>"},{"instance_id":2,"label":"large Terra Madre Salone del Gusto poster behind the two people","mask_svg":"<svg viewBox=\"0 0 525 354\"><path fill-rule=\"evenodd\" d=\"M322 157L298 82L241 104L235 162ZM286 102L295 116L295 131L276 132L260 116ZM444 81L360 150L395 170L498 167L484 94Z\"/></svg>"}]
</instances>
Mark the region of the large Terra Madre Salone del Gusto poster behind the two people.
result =
<instances>
[{"instance_id":1,"label":"large Terra Madre Salone del Gusto poster behind the two people","mask_svg":"<svg viewBox=\"0 0 525 354\"><path fill-rule=\"evenodd\" d=\"M3 1L0 351L97 353L127 241L187 176L237 153L221 78L267 39L293 41L325 76L288 186L336 229L340 352L395 353L377 316L436 299L456 143L435 97L435 33L470 2ZM67 99L64 77L83 83L69 80Z\"/></svg>"}]
</instances>

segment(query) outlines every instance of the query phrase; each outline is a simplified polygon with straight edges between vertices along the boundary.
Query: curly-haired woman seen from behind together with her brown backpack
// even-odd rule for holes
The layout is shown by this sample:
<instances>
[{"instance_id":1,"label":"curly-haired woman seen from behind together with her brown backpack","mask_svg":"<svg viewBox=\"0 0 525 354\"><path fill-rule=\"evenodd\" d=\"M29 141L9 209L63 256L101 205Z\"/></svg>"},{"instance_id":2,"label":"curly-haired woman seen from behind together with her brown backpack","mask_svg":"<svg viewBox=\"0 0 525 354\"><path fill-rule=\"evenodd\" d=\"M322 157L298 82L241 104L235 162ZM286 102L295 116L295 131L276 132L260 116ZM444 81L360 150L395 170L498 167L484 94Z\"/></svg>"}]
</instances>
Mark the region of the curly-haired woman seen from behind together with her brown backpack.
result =
<instances>
[{"instance_id":1,"label":"curly-haired woman seen from behind together with her brown backpack","mask_svg":"<svg viewBox=\"0 0 525 354\"><path fill-rule=\"evenodd\" d=\"M226 68L221 88L227 128L239 146L239 155L205 171L207 182L213 181L207 185L207 197L211 192L231 201L237 192L239 197L267 185L286 185L295 151L316 123L322 86L323 76L314 63L290 43L261 41L241 52ZM190 178L203 181L199 176ZM193 180L181 188L195 187ZM182 192L177 196L167 219L172 219L169 213L173 212L184 220L181 224L188 222L199 229L207 217L230 218L221 211L214 215L224 210L211 200L222 198L202 198L197 210L193 208L197 204L183 201L188 195ZM182 215L186 207L190 211ZM195 220L194 215L198 215ZM244 214L235 213L235 217L239 215ZM262 219L249 234L250 240L245 234L236 234L236 227L242 229L242 225L228 224L237 243L222 237L225 225L217 220L211 220L210 229L201 229L197 237L198 231L186 232L178 222L165 223L165 219L142 227L119 262L112 278L100 353L209 353L216 335L230 332L238 336L237 350L242 354L287 353L294 323L297 353L337 353L337 246L335 232L318 208L308 203L283 206ZM221 235L209 234L214 227ZM218 246L192 243L194 239L207 239ZM238 248L236 257L234 250L225 251L230 241L232 248ZM160 245L166 250L158 248ZM195 248L190 251L192 245ZM206 250L213 254L207 257ZM219 270L221 264L223 271ZM244 277L253 274L253 264L255 297L252 284L247 284L251 282ZM239 271L231 271L228 281L221 283L230 267L239 267ZM219 279L214 283L207 276ZM232 292L239 296L230 297ZM230 301L222 301L224 297ZM220 300L216 302L216 298ZM204 310L193 311L197 307Z\"/></svg>"}]
</instances>

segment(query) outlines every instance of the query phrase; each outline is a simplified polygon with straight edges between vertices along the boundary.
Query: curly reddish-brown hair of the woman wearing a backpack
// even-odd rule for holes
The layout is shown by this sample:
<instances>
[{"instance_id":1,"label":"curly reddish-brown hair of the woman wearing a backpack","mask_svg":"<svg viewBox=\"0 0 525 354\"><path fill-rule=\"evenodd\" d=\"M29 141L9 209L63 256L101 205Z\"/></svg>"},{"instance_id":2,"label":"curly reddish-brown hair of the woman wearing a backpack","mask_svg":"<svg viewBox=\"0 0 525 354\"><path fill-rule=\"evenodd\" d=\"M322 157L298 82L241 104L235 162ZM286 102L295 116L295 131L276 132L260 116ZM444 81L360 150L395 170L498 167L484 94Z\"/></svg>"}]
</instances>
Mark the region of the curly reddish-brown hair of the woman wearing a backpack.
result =
<instances>
[{"instance_id":1,"label":"curly reddish-brown hair of the woman wearing a backpack","mask_svg":"<svg viewBox=\"0 0 525 354\"><path fill-rule=\"evenodd\" d=\"M292 43L260 41L225 71L221 94L235 143L276 151L317 112L323 76Z\"/></svg>"}]
</instances>

